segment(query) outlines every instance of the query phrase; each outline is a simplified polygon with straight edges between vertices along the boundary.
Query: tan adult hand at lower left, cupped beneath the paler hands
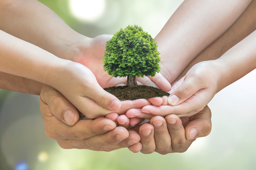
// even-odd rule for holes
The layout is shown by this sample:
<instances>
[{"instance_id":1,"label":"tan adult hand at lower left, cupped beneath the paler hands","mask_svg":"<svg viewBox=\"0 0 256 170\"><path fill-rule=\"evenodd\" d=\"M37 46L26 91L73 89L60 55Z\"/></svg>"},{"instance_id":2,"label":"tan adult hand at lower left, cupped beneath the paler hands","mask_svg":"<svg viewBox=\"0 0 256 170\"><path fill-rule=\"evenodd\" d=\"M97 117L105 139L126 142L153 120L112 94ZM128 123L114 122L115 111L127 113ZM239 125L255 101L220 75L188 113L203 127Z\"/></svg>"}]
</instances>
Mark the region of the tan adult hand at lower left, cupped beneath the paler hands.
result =
<instances>
[{"instance_id":1,"label":"tan adult hand at lower left, cupped beneath the paler hands","mask_svg":"<svg viewBox=\"0 0 256 170\"><path fill-rule=\"evenodd\" d=\"M112 151L133 146L140 140L134 131L116 127L110 119L78 120L76 108L54 88L44 86L40 94L40 110L46 136L55 139L64 149ZM133 146L134 152L140 145Z\"/></svg>"}]
</instances>

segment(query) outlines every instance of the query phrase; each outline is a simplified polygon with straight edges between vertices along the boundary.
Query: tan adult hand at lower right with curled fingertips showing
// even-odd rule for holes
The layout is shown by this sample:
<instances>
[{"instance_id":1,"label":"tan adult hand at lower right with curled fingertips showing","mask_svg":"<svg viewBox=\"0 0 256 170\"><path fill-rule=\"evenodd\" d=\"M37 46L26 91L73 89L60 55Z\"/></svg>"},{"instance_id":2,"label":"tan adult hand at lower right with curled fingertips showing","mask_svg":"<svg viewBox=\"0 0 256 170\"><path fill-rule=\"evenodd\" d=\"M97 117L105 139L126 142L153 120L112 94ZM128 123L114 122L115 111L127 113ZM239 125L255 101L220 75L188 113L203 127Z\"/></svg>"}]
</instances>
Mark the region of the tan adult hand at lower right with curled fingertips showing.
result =
<instances>
[{"instance_id":1,"label":"tan adult hand at lower right with curled fingertips showing","mask_svg":"<svg viewBox=\"0 0 256 170\"><path fill-rule=\"evenodd\" d=\"M196 138L209 135L211 112L206 106L192 117L179 118L174 114L165 118L154 116L150 124L143 124L137 130L142 145L141 153L182 153ZM139 146L139 143L134 146ZM133 151L134 146L129 149Z\"/></svg>"}]
</instances>

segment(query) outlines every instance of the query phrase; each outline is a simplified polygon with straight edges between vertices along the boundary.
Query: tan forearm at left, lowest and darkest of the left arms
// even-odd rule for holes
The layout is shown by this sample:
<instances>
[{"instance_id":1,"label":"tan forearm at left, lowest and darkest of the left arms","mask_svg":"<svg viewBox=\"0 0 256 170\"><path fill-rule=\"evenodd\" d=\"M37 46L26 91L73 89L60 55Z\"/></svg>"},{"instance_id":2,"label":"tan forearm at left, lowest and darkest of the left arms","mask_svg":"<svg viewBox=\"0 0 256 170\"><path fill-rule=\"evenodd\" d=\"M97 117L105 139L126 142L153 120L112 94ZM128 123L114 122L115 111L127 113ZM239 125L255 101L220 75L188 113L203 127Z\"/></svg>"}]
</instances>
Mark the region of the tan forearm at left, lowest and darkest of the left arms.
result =
<instances>
[{"instance_id":1,"label":"tan forearm at left, lowest and darkest of the left arms","mask_svg":"<svg viewBox=\"0 0 256 170\"><path fill-rule=\"evenodd\" d=\"M35 80L0 72L1 89L39 95L43 85Z\"/></svg>"}]
</instances>

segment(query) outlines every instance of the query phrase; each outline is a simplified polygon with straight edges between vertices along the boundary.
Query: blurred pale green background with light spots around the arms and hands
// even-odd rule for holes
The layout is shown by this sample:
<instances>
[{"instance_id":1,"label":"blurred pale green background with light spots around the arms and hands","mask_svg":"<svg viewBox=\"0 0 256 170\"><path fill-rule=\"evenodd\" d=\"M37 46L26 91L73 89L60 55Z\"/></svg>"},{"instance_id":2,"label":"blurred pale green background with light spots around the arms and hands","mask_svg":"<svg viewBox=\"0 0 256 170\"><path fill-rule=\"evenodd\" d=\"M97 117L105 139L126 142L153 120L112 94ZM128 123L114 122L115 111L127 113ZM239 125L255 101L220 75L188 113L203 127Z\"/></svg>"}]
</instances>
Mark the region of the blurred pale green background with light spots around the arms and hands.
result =
<instances>
[{"instance_id":1,"label":"blurred pale green background with light spots around the arms and hands","mask_svg":"<svg viewBox=\"0 0 256 170\"><path fill-rule=\"evenodd\" d=\"M39 1L89 37L133 24L155 37L183 0ZM0 89L0 170L255 170L255 77L254 70L213 98L209 136L167 155L64 150L45 135L38 96Z\"/></svg>"}]
</instances>

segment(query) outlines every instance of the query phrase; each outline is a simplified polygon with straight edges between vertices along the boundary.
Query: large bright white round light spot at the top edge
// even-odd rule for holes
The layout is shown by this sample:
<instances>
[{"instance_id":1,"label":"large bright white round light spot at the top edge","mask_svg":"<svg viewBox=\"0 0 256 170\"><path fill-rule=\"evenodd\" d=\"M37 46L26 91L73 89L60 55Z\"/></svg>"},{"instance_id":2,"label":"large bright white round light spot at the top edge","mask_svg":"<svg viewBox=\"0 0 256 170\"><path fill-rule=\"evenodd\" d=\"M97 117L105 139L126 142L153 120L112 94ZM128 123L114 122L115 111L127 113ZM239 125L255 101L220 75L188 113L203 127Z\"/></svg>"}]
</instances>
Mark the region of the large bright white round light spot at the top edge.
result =
<instances>
[{"instance_id":1,"label":"large bright white round light spot at the top edge","mask_svg":"<svg viewBox=\"0 0 256 170\"><path fill-rule=\"evenodd\" d=\"M93 22L103 15L105 0L69 0L69 8L74 17Z\"/></svg>"}]
</instances>

